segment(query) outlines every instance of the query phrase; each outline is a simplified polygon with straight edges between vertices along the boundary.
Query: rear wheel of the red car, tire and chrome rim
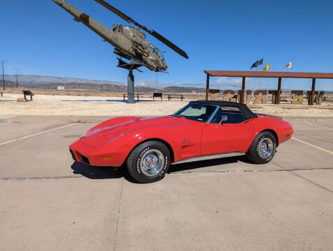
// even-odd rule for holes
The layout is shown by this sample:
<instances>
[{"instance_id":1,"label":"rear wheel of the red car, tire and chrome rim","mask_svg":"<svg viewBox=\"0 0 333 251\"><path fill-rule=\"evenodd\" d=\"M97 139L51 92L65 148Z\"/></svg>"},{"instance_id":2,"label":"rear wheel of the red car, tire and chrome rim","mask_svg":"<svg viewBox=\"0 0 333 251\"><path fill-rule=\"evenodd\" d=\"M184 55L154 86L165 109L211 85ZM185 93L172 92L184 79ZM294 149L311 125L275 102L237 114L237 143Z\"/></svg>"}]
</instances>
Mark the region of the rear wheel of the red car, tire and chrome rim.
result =
<instances>
[{"instance_id":1,"label":"rear wheel of the red car, tire and chrome rim","mask_svg":"<svg viewBox=\"0 0 333 251\"><path fill-rule=\"evenodd\" d=\"M270 162L277 151L277 139L272 132L261 132L252 142L246 153L247 158L256 164Z\"/></svg>"}]
</instances>

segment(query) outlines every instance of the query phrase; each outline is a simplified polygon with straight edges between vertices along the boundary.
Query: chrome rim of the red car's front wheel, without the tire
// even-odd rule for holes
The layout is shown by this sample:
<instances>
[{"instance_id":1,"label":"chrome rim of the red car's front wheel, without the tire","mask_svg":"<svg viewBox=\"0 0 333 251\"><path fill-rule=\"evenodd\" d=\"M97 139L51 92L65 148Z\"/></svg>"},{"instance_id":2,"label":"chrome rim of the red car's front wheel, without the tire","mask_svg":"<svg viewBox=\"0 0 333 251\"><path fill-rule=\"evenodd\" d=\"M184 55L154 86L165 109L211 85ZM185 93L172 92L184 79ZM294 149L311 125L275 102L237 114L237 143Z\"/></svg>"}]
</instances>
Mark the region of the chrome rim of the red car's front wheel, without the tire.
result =
<instances>
[{"instance_id":1,"label":"chrome rim of the red car's front wheel, without the tire","mask_svg":"<svg viewBox=\"0 0 333 251\"><path fill-rule=\"evenodd\" d=\"M147 176L155 176L159 174L163 167L164 155L156 149L146 151L141 158L140 168Z\"/></svg>"}]
</instances>

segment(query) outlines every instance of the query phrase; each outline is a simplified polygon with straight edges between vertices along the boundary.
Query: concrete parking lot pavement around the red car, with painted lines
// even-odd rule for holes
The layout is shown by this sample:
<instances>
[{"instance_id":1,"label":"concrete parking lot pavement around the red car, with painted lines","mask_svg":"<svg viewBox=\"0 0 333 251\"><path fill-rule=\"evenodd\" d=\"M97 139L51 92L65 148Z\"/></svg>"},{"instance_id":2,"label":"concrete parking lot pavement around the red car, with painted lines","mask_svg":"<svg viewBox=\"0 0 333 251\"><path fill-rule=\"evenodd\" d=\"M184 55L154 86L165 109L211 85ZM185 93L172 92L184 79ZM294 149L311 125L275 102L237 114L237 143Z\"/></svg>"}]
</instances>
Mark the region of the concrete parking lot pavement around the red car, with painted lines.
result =
<instances>
[{"instance_id":1,"label":"concrete parking lot pavement around the red car, with painted lines","mask_svg":"<svg viewBox=\"0 0 333 251\"><path fill-rule=\"evenodd\" d=\"M106 117L0 117L0 250L333 250L333 119L293 119L267 165L172 165L157 183L75 163Z\"/></svg>"}]
</instances>

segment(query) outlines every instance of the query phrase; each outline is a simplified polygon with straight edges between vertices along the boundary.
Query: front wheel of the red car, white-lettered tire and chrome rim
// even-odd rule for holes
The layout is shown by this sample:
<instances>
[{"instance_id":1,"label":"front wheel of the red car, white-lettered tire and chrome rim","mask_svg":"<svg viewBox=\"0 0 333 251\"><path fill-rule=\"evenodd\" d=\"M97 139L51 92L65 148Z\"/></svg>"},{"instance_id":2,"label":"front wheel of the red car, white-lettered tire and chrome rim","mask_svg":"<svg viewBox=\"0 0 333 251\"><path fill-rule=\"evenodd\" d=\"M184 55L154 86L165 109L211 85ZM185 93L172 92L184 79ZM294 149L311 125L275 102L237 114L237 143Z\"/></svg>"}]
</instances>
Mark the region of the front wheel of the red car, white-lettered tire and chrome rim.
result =
<instances>
[{"instance_id":1,"label":"front wheel of the red car, white-lettered tire and chrome rim","mask_svg":"<svg viewBox=\"0 0 333 251\"><path fill-rule=\"evenodd\" d=\"M169 166L169 149L163 143L153 140L139 144L127 158L127 170L139 183L160 181Z\"/></svg>"}]
</instances>

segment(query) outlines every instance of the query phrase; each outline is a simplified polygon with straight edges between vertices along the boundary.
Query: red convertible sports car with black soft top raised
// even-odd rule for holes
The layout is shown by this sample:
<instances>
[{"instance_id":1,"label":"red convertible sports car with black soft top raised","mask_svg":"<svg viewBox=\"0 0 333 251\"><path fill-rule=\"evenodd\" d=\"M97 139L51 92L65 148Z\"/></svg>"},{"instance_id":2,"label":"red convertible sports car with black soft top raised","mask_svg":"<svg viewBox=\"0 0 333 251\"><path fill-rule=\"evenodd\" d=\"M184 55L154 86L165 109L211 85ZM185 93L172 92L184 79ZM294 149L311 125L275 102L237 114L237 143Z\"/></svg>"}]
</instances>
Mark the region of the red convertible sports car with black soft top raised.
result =
<instances>
[{"instance_id":1,"label":"red convertible sports car with black soft top raised","mask_svg":"<svg viewBox=\"0 0 333 251\"><path fill-rule=\"evenodd\" d=\"M242 155L257 164L272 160L291 139L291 124L254 114L238 102L192 101L175 114L109 119L70 145L72 158L89 165L121 167L140 183L158 181L172 163Z\"/></svg>"}]
</instances>

